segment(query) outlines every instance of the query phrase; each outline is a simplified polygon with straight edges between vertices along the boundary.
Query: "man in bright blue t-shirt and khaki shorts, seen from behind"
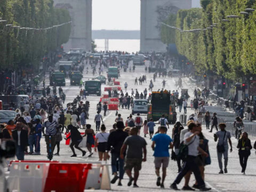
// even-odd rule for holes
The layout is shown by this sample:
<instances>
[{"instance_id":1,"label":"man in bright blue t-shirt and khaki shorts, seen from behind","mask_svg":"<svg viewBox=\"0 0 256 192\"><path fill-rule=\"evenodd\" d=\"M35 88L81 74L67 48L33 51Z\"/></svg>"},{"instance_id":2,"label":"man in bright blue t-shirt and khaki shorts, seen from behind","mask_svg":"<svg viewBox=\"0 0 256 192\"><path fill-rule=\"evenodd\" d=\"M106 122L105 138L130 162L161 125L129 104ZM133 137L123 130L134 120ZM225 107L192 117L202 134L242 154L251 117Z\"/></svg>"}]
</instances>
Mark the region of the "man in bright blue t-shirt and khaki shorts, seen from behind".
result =
<instances>
[{"instance_id":1,"label":"man in bright blue t-shirt and khaki shorts, seen from behind","mask_svg":"<svg viewBox=\"0 0 256 192\"><path fill-rule=\"evenodd\" d=\"M173 147L172 139L169 135L166 134L167 128L165 126L159 127L159 133L152 138L152 149L154 150L155 156L155 169L157 175L156 185L164 188L164 179L166 177L166 167L169 165L169 149ZM162 182L160 177L160 167L162 165L163 174Z\"/></svg>"}]
</instances>

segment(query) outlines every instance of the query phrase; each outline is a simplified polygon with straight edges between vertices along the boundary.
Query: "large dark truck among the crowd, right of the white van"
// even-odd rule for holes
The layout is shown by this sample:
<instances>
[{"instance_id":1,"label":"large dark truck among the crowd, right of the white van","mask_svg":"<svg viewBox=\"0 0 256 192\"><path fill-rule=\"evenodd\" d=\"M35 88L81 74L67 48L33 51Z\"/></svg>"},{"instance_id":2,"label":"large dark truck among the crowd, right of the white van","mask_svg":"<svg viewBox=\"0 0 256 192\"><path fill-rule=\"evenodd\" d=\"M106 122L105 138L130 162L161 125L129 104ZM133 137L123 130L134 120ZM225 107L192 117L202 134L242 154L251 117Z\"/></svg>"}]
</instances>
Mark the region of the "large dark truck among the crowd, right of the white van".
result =
<instances>
[{"instance_id":1,"label":"large dark truck among the crowd, right of the white van","mask_svg":"<svg viewBox=\"0 0 256 192\"><path fill-rule=\"evenodd\" d=\"M176 123L175 96L166 90L153 91L148 104L147 119L149 121L153 118L153 121L158 121L163 114L170 124Z\"/></svg>"}]
</instances>

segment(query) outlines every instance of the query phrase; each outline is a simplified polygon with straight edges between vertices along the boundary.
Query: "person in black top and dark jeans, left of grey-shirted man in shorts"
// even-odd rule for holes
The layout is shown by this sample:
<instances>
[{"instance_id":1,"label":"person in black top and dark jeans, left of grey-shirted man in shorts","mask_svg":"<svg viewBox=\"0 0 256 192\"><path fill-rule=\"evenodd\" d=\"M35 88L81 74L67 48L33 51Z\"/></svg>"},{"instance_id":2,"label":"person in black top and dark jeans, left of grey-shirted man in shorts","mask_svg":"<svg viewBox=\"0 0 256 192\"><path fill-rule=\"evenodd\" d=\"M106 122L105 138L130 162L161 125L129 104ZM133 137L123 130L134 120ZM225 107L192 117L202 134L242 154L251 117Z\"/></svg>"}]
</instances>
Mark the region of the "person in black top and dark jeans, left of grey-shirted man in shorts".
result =
<instances>
[{"instance_id":1,"label":"person in black top and dark jeans, left of grey-shirted man in shorts","mask_svg":"<svg viewBox=\"0 0 256 192\"><path fill-rule=\"evenodd\" d=\"M112 174L114 175L111 183L114 184L119 179L118 186L122 186L121 181L124 177L124 159L120 157L120 151L124 140L128 137L128 133L123 131L123 122L117 122L116 127L116 131L111 132L108 137L108 151L111 151L111 169ZM119 172L119 176L117 174L117 170Z\"/></svg>"}]
</instances>

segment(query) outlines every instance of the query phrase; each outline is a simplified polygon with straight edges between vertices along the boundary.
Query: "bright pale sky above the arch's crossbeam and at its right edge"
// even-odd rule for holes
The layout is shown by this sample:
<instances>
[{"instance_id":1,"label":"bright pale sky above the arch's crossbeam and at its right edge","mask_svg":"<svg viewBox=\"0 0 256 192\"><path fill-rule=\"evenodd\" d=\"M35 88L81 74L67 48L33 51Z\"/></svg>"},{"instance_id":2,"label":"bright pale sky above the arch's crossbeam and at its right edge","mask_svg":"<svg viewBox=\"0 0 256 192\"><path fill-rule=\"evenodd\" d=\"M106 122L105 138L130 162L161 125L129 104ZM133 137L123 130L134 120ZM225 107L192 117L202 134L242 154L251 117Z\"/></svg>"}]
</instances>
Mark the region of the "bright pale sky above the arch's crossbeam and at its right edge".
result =
<instances>
[{"instance_id":1,"label":"bright pale sky above the arch's crossbeam and at its right edge","mask_svg":"<svg viewBox=\"0 0 256 192\"><path fill-rule=\"evenodd\" d=\"M192 0L192 7L199 6ZM92 29L140 30L140 0L93 0Z\"/></svg>"}]
</instances>

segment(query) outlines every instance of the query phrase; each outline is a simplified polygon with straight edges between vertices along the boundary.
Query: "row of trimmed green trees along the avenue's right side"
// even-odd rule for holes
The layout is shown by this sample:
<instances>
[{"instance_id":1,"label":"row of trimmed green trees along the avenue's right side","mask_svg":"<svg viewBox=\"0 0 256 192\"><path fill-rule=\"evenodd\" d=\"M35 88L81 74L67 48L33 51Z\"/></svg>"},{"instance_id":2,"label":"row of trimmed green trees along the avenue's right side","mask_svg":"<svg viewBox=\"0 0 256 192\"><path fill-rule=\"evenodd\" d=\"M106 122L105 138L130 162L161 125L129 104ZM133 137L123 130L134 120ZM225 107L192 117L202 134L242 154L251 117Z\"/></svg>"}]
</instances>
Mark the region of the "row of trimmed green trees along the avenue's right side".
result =
<instances>
[{"instance_id":1,"label":"row of trimmed green trees along the avenue's right side","mask_svg":"<svg viewBox=\"0 0 256 192\"><path fill-rule=\"evenodd\" d=\"M182 30L213 29L194 33L175 30L175 43L180 54L195 65L196 75L212 72L233 81L256 75L256 12L240 14L246 8L256 9L252 0L201 0L202 9L179 10L175 25ZM239 15L229 18L227 15ZM173 18L173 15L171 15ZM173 23L173 21L172 21ZM162 29L162 41L170 43L172 34Z\"/></svg>"}]
</instances>

